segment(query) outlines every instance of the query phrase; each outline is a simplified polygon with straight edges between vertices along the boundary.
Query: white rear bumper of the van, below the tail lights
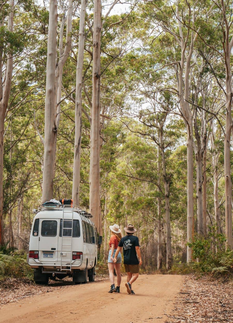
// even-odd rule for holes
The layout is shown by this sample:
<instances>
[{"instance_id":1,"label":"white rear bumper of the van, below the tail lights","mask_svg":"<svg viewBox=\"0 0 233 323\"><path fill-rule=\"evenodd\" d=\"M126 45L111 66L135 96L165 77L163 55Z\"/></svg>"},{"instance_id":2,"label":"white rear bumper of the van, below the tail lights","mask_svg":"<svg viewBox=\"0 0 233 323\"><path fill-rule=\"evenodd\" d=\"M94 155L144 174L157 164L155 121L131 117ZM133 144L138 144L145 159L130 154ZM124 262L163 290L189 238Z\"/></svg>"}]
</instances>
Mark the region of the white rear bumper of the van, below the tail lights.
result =
<instances>
[{"instance_id":1,"label":"white rear bumper of the van, below the tail lights","mask_svg":"<svg viewBox=\"0 0 233 323\"><path fill-rule=\"evenodd\" d=\"M29 254L27 254L27 263L31 268L61 268L61 262L41 262L38 259L29 258ZM62 266L70 266L70 262L62 262ZM71 262L71 269L81 269L83 270L86 267L86 264L83 264L83 256L81 255L81 259L72 260ZM80 268L81 267L81 268Z\"/></svg>"}]
</instances>

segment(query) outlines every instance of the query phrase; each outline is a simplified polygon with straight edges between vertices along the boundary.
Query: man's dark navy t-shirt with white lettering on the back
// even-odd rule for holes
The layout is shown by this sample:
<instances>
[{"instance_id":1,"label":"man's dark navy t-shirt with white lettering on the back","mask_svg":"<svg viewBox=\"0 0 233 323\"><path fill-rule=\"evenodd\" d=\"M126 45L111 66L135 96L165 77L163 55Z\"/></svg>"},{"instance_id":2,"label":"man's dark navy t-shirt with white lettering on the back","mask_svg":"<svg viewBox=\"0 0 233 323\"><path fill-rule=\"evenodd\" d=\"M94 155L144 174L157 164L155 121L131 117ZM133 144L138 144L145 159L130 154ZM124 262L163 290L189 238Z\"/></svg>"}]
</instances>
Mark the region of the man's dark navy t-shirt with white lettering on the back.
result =
<instances>
[{"instance_id":1,"label":"man's dark navy t-shirt with white lettering on the back","mask_svg":"<svg viewBox=\"0 0 233 323\"><path fill-rule=\"evenodd\" d=\"M138 265L139 260L137 257L135 247L139 247L139 239L134 235L125 235L120 239L118 247L123 247L124 264Z\"/></svg>"}]
</instances>

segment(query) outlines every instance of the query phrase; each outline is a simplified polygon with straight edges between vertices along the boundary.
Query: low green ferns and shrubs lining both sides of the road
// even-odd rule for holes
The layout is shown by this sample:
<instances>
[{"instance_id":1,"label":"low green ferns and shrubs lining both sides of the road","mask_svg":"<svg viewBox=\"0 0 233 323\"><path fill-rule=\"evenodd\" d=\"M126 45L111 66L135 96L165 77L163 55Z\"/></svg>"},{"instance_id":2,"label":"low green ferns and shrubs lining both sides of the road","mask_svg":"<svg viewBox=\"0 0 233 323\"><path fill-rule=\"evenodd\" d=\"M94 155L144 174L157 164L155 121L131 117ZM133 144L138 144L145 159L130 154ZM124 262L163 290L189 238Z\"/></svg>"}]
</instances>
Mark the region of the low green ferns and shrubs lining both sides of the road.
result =
<instances>
[{"instance_id":1,"label":"low green ferns and shrubs lining both sides of the road","mask_svg":"<svg viewBox=\"0 0 233 323\"><path fill-rule=\"evenodd\" d=\"M156 270L151 266L144 266L140 274L195 274L197 277L209 275L214 279L223 278L233 280L233 251L213 252L211 245L206 241L196 240L192 244L193 257L196 261L190 263L173 263L172 269ZM108 277L108 266L101 255L96 267L97 274L102 278ZM121 272L124 273L122 264ZM33 280L33 270L27 264L27 254L23 250L12 250L2 247L0 250L0 281L8 278Z\"/></svg>"}]
</instances>

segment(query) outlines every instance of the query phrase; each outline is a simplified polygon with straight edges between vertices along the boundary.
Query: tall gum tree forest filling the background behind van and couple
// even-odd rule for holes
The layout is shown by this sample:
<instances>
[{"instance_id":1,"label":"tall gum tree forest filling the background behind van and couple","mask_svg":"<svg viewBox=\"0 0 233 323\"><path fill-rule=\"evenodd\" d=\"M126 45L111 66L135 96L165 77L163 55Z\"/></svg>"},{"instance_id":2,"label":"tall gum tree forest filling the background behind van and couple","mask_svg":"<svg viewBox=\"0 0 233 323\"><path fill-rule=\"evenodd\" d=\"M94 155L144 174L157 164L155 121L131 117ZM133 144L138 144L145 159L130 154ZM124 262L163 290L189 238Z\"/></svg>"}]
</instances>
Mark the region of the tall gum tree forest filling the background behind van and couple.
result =
<instances>
[{"instance_id":1,"label":"tall gum tree forest filling the background behind van and couple","mask_svg":"<svg viewBox=\"0 0 233 323\"><path fill-rule=\"evenodd\" d=\"M117 223L142 273L231 279L231 3L103 4L101 24L97 0L2 2L0 278L31 279L32 210L72 198L103 236L97 273Z\"/></svg>"}]
</instances>

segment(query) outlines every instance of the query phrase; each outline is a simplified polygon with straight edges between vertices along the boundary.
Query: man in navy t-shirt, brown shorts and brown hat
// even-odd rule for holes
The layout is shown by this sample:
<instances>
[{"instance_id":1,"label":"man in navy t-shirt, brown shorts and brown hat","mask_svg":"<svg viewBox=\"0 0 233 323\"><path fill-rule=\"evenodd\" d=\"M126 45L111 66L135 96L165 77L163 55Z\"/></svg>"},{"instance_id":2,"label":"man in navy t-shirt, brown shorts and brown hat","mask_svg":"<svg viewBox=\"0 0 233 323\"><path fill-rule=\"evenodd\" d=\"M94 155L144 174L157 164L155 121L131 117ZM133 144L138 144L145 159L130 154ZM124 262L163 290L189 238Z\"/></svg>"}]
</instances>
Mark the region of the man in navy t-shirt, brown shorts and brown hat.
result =
<instances>
[{"instance_id":1,"label":"man in navy t-shirt, brown shorts and brown hat","mask_svg":"<svg viewBox=\"0 0 233 323\"><path fill-rule=\"evenodd\" d=\"M128 294L135 294L132 290L132 284L139 276L139 265L142 264L141 251L139 247L139 239L133 234L137 231L132 224L124 228L125 235L118 243L115 253L114 262L117 261L117 255L123 247L124 266L127 273L127 283L125 284ZM138 257L137 257L138 255ZM139 259L138 259L139 258Z\"/></svg>"}]
</instances>

